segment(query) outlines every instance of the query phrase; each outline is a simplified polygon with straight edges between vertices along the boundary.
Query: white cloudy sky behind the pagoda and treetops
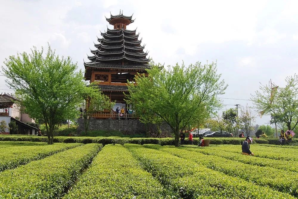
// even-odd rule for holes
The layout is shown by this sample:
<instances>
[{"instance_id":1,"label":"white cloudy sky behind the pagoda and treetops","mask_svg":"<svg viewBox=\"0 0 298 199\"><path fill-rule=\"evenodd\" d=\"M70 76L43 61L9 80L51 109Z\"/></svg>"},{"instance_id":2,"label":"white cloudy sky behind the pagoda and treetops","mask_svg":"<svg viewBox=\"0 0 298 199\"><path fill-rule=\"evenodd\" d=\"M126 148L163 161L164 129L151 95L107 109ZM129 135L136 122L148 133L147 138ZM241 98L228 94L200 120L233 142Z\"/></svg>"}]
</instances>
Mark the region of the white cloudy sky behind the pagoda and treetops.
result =
<instances>
[{"instance_id":1,"label":"white cloudy sky behind the pagoda and treetops","mask_svg":"<svg viewBox=\"0 0 298 199\"><path fill-rule=\"evenodd\" d=\"M0 62L9 55L49 42L59 55L71 56L83 69L104 32L105 16L136 18L127 28L140 32L150 57L173 65L208 60L229 84L223 98L249 99L270 78L298 73L298 1L0 1ZM111 28L111 25L109 25ZM0 92L12 92L0 76ZM252 105L222 99L224 104ZM233 106L226 106L230 108ZM268 117L256 123L268 122Z\"/></svg>"}]
</instances>

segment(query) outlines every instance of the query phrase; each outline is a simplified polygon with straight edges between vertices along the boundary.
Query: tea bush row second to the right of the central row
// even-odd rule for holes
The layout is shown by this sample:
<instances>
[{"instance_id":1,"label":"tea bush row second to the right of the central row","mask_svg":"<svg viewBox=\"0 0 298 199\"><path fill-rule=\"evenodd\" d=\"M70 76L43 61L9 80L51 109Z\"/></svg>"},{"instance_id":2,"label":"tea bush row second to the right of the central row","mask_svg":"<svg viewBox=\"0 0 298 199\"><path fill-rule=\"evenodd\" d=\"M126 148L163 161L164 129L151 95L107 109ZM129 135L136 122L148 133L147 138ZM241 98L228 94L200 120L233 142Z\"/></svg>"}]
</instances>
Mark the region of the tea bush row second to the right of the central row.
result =
<instances>
[{"instance_id":1,"label":"tea bush row second to the right of the central row","mask_svg":"<svg viewBox=\"0 0 298 199\"><path fill-rule=\"evenodd\" d=\"M151 146L146 145L146 147ZM280 169L244 164L215 155L205 155L200 151L187 151L173 147L160 147L159 150L169 152L187 161L195 161L200 165L218 172L223 172L226 175L237 176L243 180L254 182L261 186L269 186L272 189L290 193L294 196L298 194L297 172L287 171L287 175L284 175L283 172L280 172Z\"/></svg>"}]
</instances>

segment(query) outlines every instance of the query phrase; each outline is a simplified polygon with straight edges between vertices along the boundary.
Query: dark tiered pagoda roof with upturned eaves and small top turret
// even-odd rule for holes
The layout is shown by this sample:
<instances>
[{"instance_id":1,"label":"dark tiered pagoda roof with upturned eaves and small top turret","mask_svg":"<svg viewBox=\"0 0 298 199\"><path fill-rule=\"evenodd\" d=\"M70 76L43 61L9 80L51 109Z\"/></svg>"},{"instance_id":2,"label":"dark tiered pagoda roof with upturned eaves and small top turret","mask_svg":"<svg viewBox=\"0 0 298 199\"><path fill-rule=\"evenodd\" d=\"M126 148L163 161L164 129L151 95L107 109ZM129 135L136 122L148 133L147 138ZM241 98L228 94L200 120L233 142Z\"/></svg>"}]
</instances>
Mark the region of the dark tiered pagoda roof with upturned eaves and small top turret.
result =
<instances>
[{"instance_id":1,"label":"dark tiered pagoda roof with upturned eaves and small top turret","mask_svg":"<svg viewBox=\"0 0 298 199\"><path fill-rule=\"evenodd\" d=\"M145 70L151 66L146 58L148 52L144 52L145 45L141 45L142 38L136 30L126 30L126 25L133 23L132 16L123 14L111 15L106 20L114 25L114 29L107 28L102 38L97 38L98 44L94 43L95 50L91 50L93 55L88 55L89 62L84 61L86 69L85 78L89 80L89 68L101 69L125 69L125 70Z\"/></svg>"}]
</instances>

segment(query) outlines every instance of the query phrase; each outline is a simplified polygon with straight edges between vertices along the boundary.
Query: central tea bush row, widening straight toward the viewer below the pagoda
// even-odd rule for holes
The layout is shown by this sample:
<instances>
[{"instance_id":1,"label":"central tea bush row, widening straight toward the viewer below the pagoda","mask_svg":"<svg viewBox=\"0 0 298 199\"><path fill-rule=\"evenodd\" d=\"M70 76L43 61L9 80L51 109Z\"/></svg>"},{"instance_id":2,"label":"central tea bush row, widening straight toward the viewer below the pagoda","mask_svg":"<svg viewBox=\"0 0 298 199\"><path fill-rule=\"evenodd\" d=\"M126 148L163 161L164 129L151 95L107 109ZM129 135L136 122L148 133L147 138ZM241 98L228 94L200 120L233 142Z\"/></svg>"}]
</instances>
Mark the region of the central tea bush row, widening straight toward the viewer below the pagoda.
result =
<instances>
[{"instance_id":1,"label":"central tea bush row, widening straight toward the viewer below the pagoda","mask_svg":"<svg viewBox=\"0 0 298 199\"><path fill-rule=\"evenodd\" d=\"M122 145L106 145L64 199L172 198Z\"/></svg>"}]
</instances>

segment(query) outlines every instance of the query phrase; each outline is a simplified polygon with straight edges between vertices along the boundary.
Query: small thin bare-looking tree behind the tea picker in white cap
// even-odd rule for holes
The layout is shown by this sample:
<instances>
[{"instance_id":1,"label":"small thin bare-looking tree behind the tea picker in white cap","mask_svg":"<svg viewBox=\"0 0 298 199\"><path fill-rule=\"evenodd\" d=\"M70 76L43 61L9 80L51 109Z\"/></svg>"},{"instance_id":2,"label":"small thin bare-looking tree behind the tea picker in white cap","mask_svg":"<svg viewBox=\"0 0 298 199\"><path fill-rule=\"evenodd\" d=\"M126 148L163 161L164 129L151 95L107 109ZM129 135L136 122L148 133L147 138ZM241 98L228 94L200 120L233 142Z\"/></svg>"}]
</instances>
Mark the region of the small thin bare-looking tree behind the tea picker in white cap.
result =
<instances>
[{"instance_id":1,"label":"small thin bare-looking tree behind the tea picker in white cap","mask_svg":"<svg viewBox=\"0 0 298 199\"><path fill-rule=\"evenodd\" d=\"M246 133L246 135L250 135L250 132L254 130L253 122L255 121L255 116L252 114L251 107L246 105L246 108L241 108L241 114L239 117L240 128Z\"/></svg>"}]
</instances>

